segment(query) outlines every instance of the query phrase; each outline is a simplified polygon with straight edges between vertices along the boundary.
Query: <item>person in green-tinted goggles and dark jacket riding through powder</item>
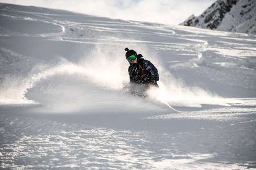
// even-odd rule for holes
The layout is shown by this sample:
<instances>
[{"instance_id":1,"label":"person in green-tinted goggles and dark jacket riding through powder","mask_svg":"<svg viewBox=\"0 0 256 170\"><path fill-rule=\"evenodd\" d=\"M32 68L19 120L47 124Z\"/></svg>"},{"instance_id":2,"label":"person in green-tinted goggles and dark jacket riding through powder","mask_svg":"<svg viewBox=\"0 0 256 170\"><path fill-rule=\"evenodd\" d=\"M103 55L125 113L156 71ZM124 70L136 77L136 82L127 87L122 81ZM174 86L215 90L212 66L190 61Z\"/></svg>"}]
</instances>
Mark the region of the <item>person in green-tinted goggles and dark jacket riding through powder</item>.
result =
<instances>
[{"instance_id":1,"label":"person in green-tinted goggles and dark jacket riding through powder","mask_svg":"<svg viewBox=\"0 0 256 170\"><path fill-rule=\"evenodd\" d=\"M128 71L133 93L138 93L138 89L139 91L143 89L144 92L151 86L158 87L158 69L150 61L142 58L142 54L137 54L137 52L128 48L125 50L125 57L130 63ZM134 89L137 89L137 92L134 92Z\"/></svg>"}]
</instances>

